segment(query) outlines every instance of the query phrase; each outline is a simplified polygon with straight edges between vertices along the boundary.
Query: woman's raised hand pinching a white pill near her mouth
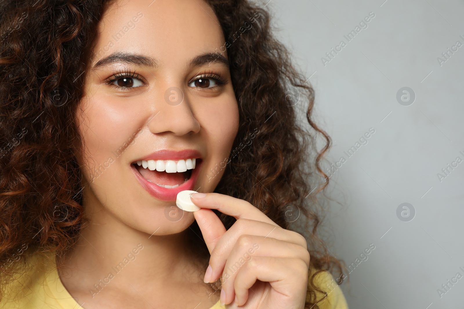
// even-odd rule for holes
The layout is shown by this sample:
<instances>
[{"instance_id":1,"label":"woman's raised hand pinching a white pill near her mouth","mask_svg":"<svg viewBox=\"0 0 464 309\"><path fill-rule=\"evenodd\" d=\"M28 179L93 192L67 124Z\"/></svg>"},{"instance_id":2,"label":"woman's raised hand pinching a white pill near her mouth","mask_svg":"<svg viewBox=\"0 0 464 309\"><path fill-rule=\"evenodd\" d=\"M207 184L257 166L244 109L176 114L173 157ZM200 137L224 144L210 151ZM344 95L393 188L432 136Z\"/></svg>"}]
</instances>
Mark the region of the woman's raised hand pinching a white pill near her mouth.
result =
<instances>
[{"instance_id":1,"label":"woman's raised hand pinching a white pill near her mouth","mask_svg":"<svg viewBox=\"0 0 464 309\"><path fill-rule=\"evenodd\" d=\"M211 254L205 282L221 278L221 303L231 304L228 308L304 308L309 252L302 235L279 227L244 200L218 193L195 193L191 200L202 208L193 215ZM237 221L226 231L207 208Z\"/></svg>"}]
</instances>

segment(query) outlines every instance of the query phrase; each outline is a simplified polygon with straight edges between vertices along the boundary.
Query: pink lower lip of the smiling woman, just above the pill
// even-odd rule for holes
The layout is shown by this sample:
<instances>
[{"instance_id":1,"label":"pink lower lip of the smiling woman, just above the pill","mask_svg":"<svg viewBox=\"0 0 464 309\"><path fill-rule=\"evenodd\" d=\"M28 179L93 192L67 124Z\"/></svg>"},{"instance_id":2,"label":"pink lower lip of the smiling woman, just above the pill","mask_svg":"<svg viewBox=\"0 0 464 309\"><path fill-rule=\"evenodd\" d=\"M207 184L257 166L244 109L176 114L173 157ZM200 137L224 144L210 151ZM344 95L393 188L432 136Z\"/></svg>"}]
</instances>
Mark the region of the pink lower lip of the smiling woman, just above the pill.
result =
<instances>
[{"instance_id":1,"label":"pink lower lip of the smiling woman, just above the pill","mask_svg":"<svg viewBox=\"0 0 464 309\"><path fill-rule=\"evenodd\" d=\"M197 182L199 176L201 164L202 162L197 163L195 168L192 170L192 176L190 176L190 178L185 183L180 184L179 187L174 189L163 188L156 185L155 183L150 183L147 179L140 175L139 171L135 169L133 164L131 164L130 167L135 174L135 178L137 178L143 189L147 190L150 195L163 201L175 201L177 194L180 191L193 190L193 186Z\"/></svg>"}]
</instances>

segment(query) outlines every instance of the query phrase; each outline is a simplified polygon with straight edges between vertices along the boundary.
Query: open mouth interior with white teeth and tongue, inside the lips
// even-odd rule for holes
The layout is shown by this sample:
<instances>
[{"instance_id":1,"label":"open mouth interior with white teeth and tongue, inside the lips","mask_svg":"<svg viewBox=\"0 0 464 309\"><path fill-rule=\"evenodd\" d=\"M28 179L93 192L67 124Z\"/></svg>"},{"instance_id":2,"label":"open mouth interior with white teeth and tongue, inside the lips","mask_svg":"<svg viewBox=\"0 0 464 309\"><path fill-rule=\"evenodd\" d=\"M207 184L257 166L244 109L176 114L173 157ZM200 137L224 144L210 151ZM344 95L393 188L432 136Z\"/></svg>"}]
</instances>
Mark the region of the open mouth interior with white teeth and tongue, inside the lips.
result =
<instances>
[{"instance_id":1,"label":"open mouth interior with white teeth and tongue, inside the lips","mask_svg":"<svg viewBox=\"0 0 464 309\"><path fill-rule=\"evenodd\" d=\"M161 188L175 189L192 177L195 166L200 162L200 158L139 160L133 162L132 165L148 182Z\"/></svg>"}]
</instances>

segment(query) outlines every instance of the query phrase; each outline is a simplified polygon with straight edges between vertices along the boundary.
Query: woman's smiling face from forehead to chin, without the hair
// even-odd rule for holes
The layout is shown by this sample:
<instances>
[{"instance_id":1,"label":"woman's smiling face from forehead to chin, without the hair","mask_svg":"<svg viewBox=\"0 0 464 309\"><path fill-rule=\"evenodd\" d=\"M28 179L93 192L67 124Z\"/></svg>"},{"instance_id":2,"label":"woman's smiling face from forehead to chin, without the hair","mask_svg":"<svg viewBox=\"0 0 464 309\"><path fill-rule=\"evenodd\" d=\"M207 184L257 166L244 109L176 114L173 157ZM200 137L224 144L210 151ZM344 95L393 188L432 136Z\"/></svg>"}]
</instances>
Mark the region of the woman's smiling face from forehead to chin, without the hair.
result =
<instances>
[{"instance_id":1,"label":"woman's smiling face from forehead to chin, without the hair","mask_svg":"<svg viewBox=\"0 0 464 309\"><path fill-rule=\"evenodd\" d=\"M218 184L238 105L213 10L201 0L150 2L105 11L77 123L92 220L159 235L194 220L175 207L178 192Z\"/></svg>"}]
</instances>

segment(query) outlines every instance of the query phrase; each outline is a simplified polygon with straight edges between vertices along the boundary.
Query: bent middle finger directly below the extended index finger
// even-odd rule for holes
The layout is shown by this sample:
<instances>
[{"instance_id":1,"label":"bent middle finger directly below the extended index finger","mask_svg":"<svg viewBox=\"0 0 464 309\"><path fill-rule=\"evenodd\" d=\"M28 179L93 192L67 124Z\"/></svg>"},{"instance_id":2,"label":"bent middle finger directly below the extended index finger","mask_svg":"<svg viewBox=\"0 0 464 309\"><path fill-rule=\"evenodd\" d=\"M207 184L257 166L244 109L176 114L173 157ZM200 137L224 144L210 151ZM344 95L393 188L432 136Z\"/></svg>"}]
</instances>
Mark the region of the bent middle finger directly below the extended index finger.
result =
<instances>
[{"instance_id":1,"label":"bent middle finger directly below the extended index finger","mask_svg":"<svg viewBox=\"0 0 464 309\"><path fill-rule=\"evenodd\" d=\"M244 234L256 235L261 237L261 239L273 238L282 240L295 244L296 246L301 246L301 248L305 251L308 249L304 237L296 232L260 221L239 219L232 225L231 228L229 228L229 230L227 230L226 233L224 233L224 235L220 237L219 241L217 241L214 247L214 254L211 254L211 258L209 260L209 264L212 267L211 277L209 278L210 282L216 281L222 274L234 246L237 244L240 237L242 237ZM249 245L245 244L245 246L248 246L248 248L251 245L252 243Z\"/></svg>"}]
</instances>

